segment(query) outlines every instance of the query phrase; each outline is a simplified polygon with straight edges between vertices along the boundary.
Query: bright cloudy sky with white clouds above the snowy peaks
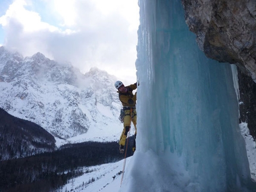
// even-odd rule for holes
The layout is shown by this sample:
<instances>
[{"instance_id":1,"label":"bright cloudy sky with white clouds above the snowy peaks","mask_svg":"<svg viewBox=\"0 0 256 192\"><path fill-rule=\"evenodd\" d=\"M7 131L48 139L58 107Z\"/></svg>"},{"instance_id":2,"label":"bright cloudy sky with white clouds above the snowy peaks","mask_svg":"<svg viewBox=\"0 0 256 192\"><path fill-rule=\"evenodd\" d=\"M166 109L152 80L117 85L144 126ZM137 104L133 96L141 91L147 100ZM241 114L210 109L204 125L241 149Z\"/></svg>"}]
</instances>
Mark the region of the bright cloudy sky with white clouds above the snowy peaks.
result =
<instances>
[{"instance_id":1,"label":"bright cloudy sky with white clouds above the snowy peaks","mask_svg":"<svg viewBox=\"0 0 256 192\"><path fill-rule=\"evenodd\" d=\"M0 45L136 81L138 0L1 0Z\"/></svg>"}]
</instances>

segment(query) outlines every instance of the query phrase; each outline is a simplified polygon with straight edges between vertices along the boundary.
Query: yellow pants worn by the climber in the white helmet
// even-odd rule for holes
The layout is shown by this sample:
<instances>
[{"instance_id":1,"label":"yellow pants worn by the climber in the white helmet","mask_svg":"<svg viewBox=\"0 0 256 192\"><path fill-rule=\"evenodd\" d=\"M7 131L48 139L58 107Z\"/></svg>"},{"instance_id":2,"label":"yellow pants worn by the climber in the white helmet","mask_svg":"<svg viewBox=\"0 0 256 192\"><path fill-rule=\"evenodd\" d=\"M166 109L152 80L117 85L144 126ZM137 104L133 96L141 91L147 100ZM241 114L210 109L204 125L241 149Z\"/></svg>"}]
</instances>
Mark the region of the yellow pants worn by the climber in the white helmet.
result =
<instances>
[{"instance_id":1,"label":"yellow pants worn by the climber in the white helmet","mask_svg":"<svg viewBox=\"0 0 256 192\"><path fill-rule=\"evenodd\" d=\"M136 128L136 124L137 124L137 114L136 114L136 109L132 109L132 113L131 110L124 110L124 128L123 128L123 132L121 133L120 136L120 140L119 140L119 144L121 144L122 146L124 146L124 144L126 143L126 137L127 137L127 133L130 131L130 124L133 122L133 125L135 127L135 138L136 138L136 134L137 134L137 128ZM133 147L135 147L136 143L133 143Z\"/></svg>"}]
</instances>

